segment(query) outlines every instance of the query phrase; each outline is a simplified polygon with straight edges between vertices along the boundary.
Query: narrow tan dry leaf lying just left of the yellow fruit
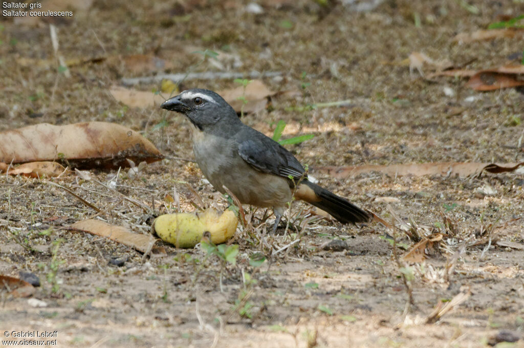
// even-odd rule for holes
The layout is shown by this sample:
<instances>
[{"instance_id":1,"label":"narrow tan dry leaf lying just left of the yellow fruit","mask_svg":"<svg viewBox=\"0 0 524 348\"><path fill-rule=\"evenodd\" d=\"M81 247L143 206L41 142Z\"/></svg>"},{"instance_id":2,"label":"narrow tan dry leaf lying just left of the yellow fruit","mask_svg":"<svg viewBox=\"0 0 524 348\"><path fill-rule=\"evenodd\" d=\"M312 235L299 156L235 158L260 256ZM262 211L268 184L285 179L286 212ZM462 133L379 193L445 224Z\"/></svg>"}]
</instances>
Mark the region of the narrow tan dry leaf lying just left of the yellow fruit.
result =
<instances>
[{"instance_id":1,"label":"narrow tan dry leaf lying just left of the yellow fruit","mask_svg":"<svg viewBox=\"0 0 524 348\"><path fill-rule=\"evenodd\" d=\"M157 241L157 239L150 234L133 233L125 227L110 225L94 219L75 222L69 226L69 229L106 237L112 241L132 247L142 253L148 253Z\"/></svg>"}]
</instances>

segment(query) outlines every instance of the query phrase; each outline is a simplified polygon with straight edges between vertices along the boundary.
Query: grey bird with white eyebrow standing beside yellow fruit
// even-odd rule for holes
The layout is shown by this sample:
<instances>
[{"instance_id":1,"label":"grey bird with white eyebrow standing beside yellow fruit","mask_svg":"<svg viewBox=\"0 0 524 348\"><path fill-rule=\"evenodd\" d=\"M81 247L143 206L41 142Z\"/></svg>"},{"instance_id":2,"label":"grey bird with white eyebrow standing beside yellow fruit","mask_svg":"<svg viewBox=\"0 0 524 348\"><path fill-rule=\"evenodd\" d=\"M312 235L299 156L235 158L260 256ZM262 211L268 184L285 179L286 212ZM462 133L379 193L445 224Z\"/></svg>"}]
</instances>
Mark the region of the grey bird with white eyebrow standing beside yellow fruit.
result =
<instances>
[{"instance_id":1,"label":"grey bird with white eyebrow standing beside yellow fruit","mask_svg":"<svg viewBox=\"0 0 524 348\"><path fill-rule=\"evenodd\" d=\"M292 197L328 212L343 224L371 219L370 213L308 180L297 158L244 124L219 94L189 89L160 107L189 119L196 163L217 191L224 194L227 188L242 204L273 209L273 233Z\"/></svg>"}]
</instances>

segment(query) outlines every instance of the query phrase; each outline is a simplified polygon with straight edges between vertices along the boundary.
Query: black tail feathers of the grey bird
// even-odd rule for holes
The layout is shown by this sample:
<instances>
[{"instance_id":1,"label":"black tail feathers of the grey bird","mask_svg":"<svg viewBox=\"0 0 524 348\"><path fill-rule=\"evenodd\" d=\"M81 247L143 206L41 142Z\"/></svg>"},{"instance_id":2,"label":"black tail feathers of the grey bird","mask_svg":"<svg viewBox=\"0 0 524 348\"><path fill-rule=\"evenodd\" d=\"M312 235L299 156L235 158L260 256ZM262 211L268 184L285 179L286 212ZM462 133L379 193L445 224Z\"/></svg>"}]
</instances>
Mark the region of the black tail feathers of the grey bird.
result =
<instances>
[{"instance_id":1,"label":"black tail feathers of the grey bird","mask_svg":"<svg viewBox=\"0 0 524 348\"><path fill-rule=\"evenodd\" d=\"M319 198L319 200L308 200L308 202L317 208L325 210L343 224L349 222L367 222L371 219L369 213L358 208L355 204L348 202L346 199L321 188L309 180L304 180L302 183L311 188L315 192L316 197Z\"/></svg>"}]
</instances>

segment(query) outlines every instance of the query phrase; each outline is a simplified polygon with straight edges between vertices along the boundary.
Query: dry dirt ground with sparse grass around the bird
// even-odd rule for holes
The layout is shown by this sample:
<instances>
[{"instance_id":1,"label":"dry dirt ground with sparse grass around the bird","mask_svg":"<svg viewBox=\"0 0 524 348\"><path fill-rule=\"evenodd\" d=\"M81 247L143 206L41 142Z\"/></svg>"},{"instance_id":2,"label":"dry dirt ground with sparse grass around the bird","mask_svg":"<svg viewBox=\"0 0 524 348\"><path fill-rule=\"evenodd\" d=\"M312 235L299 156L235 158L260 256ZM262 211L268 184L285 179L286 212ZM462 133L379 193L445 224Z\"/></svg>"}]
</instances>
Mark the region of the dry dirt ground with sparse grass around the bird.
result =
<instances>
[{"instance_id":1,"label":"dry dirt ground with sparse grass around the bird","mask_svg":"<svg viewBox=\"0 0 524 348\"><path fill-rule=\"evenodd\" d=\"M458 78L424 79L406 63L413 51L467 69L522 59L522 35L463 45L453 37L485 29L501 16L516 17L524 3L258 3L261 14L247 12L246 1L95 0L86 9L73 7L73 17L36 26L2 18L0 131L42 122L115 122L139 131L170 157L135 177L127 169L92 169L95 180L74 173L54 180L99 214L48 179L0 176L0 272L37 275L41 286L32 298L45 304L2 292L2 332L57 331L58 346L78 347L482 347L504 341L496 335L520 338L499 347L524 347L524 250L496 243L524 245L522 173L372 172L333 179L315 170L524 161L521 90L477 92ZM58 55L82 60L70 64L70 77L57 69L50 22L58 29ZM230 60L217 67L191 53L205 49L225 52ZM264 211L252 214L245 206L252 222L237 230L230 242L239 246L236 263L225 265L198 247L165 244L166 253L144 257L105 238L63 230L97 215L148 233L151 211L170 211L168 194L179 195L182 210L193 209L195 193L183 182L205 204L227 205L191 161L190 124L182 115L158 106L127 107L108 93L122 78L154 74L130 71L114 59L137 54L169 62L165 72L280 72L263 79L268 88L299 95L275 100L243 121L269 136L279 119L288 125L283 137L315 134L287 148L322 186L399 228L311 222L309 207L299 203L287 215L290 230L282 226L260 243L270 220L260 224ZM179 90L237 85L233 79L185 80ZM341 100L350 102L297 107ZM142 209L125 198L155 206ZM410 229L446 236L428 249L424 262L408 264L400 257L416 244L405 232ZM390 237L397 240L395 249ZM346 245L324 249L330 241ZM266 261L253 265L261 255ZM426 323L439 302L461 295L463 302Z\"/></svg>"}]
</instances>

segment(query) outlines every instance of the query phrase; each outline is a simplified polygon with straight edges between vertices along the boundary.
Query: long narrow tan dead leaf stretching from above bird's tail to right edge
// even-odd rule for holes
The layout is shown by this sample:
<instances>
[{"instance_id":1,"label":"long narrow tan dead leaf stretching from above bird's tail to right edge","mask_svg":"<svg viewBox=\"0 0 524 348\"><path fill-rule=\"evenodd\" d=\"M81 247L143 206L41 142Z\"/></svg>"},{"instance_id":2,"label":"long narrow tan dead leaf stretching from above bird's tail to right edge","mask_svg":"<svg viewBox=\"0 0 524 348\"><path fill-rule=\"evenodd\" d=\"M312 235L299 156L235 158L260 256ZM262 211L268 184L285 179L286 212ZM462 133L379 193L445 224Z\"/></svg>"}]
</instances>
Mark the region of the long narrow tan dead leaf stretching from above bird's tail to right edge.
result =
<instances>
[{"instance_id":1,"label":"long narrow tan dead leaf stretching from above bird's tail to right edge","mask_svg":"<svg viewBox=\"0 0 524 348\"><path fill-rule=\"evenodd\" d=\"M361 173L368 173L378 171L389 176L423 176L423 175L442 175L454 176L458 175L465 177L472 174L481 173L483 171L491 173L501 173L514 171L524 162L518 164L487 164L477 162L436 162L436 163L422 163L422 164L401 164L401 165L365 165L365 166L347 166L347 167L317 167L315 170L327 172L334 178L345 178L356 176Z\"/></svg>"}]
</instances>

